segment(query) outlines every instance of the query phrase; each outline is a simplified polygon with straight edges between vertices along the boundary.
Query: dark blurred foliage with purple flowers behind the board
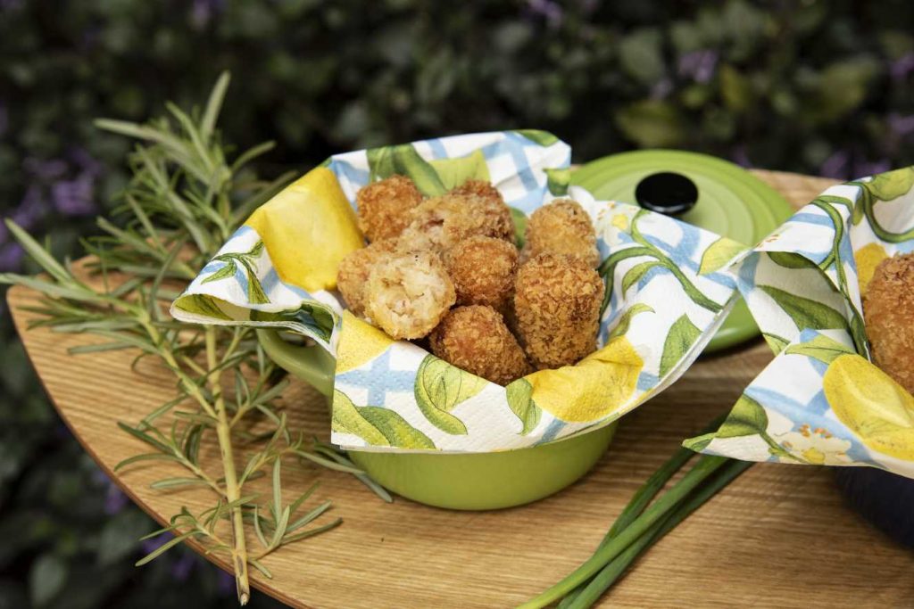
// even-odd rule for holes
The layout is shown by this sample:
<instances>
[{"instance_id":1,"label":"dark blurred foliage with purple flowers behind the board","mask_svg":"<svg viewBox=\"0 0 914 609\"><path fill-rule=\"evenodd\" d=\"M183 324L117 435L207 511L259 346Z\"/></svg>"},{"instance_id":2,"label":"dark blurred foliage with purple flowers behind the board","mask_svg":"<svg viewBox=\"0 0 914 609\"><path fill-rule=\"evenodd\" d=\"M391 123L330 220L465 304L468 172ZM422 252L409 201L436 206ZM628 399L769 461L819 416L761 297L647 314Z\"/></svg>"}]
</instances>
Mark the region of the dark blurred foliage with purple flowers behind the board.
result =
<instances>
[{"instance_id":1,"label":"dark blurred foliage with purple flowers behind the board","mask_svg":"<svg viewBox=\"0 0 914 609\"><path fill-rule=\"evenodd\" d=\"M507 128L576 162L676 147L876 173L914 163L912 32L901 0L0 0L0 215L75 252L130 146L91 121L199 102L223 69L226 140L276 140L266 175ZM0 271L23 269L0 225ZM188 551L133 568L152 522L69 436L5 310L0 341L0 609L232 603Z\"/></svg>"}]
</instances>

